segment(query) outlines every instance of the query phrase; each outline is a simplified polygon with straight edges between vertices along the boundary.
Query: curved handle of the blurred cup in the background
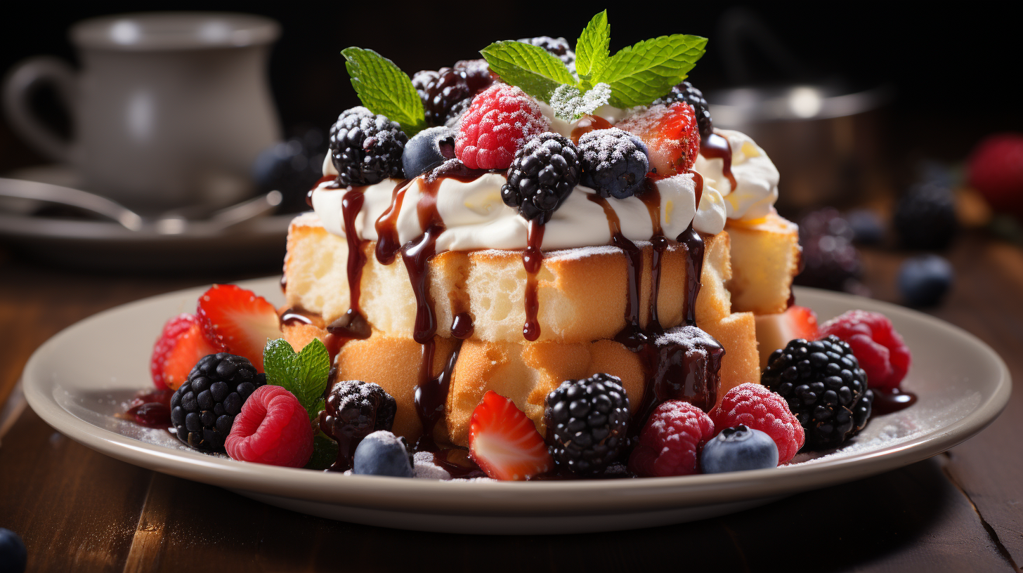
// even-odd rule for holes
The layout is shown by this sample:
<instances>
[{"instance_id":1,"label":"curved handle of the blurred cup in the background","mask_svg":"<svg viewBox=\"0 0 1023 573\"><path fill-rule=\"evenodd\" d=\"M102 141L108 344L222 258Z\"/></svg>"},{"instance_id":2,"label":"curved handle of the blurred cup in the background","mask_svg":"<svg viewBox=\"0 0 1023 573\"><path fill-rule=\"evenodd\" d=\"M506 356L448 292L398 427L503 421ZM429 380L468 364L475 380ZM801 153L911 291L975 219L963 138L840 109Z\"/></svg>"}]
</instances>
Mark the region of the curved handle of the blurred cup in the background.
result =
<instances>
[{"instance_id":1,"label":"curved handle of the blurred cup in the background","mask_svg":"<svg viewBox=\"0 0 1023 573\"><path fill-rule=\"evenodd\" d=\"M14 67L4 80L3 108L7 121L23 138L50 159L71 162L72 142L54 133L32 111L30 97L41 85L51 85L74 115L77 96L75 71L55 57L39 56L26 59Z\"/></svg>"}]
</instances>

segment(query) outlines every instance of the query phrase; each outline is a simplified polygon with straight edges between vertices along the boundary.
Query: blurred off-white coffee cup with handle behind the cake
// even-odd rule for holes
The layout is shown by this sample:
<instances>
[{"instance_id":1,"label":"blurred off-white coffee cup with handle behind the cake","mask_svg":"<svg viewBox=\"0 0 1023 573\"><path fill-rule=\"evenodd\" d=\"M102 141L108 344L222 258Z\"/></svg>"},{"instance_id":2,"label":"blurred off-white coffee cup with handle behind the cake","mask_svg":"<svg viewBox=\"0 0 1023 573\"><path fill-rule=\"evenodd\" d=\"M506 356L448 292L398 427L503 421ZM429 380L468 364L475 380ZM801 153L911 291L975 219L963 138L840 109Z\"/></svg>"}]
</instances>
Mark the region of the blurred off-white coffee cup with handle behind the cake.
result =
<instances>
[{"instance_id":1,"label":"blurred off-white coffee cup with handle behind the cake","mask_svg":"<svg viewBox=\"0 0 1023 573\"><path fill-rule=\"evenodd\" d=\"M52 57L19 63L5 81L4 111L90 191L149 211L233 203L252 192L256 156L280 139L266 74L279 33L249 14L87 19L71 29L81 72ZM66 104L72 140L33 114L30 96L42 84Z\"/></svg>"}]
</instances>

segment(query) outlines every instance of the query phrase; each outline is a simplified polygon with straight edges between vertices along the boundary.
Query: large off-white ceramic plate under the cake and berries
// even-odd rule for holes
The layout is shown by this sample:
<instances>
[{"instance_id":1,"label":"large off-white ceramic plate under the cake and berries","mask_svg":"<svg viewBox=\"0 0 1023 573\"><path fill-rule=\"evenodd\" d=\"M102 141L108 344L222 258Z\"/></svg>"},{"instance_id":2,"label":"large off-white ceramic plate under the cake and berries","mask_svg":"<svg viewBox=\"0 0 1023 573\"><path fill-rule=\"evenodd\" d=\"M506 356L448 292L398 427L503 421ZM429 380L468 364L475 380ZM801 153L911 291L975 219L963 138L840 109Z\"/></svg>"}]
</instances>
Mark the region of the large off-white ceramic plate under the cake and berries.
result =
<instances>
[{"instance_id":1,"label":"large off-white ceramic plate under the cake and berries","mask_svg":"<svg viewBox=\"0 0 1023 573\"><path fill-rule=\"evenodd\" d=\"M277 278L242 283L280 303ZM877 416L841 450L772 470L638 480L509 483L345 476L235 461L188 450L162 430L114 414L150 387L152 342L168 317L205 290L127 304L87 318L41 346L25 394L48 424L107 455L330 519L458 533L574 533L694 521L880 474L942 452L980 432L1009 400L1005 363L972 335L901 307L799 289L821 320L852 308L887 314L914 354L903 388L920 400Z\"/></svg>"}]
</instances>

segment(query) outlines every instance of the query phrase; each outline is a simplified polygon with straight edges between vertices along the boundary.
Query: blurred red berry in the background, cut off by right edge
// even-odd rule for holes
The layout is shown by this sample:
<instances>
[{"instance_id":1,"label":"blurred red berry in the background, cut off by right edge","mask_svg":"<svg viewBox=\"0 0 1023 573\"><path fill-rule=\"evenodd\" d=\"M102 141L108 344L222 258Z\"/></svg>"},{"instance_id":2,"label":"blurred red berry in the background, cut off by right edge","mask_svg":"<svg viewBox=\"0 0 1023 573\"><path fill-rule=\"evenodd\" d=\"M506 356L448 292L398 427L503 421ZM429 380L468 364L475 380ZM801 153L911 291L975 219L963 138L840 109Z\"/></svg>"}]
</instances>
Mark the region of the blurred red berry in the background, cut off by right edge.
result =
<instances>
[{"instance_id":1,"label":"blurred red berry in the background, cut off by right edge","mask_svg":"<svg viewBox=\"0 0 1023 573\"><path fill-rule=\"evenodd\" d=\"M977 144L969 162L970 185L997 211L1023 217L1023 135L999 133Z\"/></svg>"}]
</instances>

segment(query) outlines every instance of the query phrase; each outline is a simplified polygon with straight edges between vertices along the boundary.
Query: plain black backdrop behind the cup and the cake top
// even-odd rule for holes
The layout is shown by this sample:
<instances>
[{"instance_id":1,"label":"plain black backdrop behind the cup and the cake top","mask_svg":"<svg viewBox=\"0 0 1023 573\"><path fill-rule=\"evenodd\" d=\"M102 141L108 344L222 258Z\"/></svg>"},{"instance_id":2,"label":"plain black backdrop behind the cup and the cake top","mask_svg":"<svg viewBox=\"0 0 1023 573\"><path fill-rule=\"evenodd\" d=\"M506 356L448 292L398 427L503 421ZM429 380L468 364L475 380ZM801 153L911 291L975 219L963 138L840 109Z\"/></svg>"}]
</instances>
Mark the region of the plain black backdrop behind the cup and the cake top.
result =
<instances>
[{"instance_id":1,"label":"plain black backdrop behind the cup and the cake top","mask_svg":"<svg viewBox=\"0 0 1023 573\"><path fill-rule=\"evenodd\" d=\"M541 7L542 6L542 7ZM372 48L410 75L436 70L498 39L565 36L579 32L609 8L612 52L655 36L686 33L710 38L708 51L691 75L705 90L735 85L715 36L722 14L743 6L756 14L807 71L809 80L843 78L851 87L888 84L896 97L886 111L887 148L892 160L928 157L961 160L983 135L1023 128L1016 83L1018 24L1005 8L980 3L954 10L898 3L686 3L670 5L546 2L397 3L332 2L323 5L275 2L97 1L56 8L47 2L18 3L18 15L0 21L0 72L24 57L53 54L74 61L66 30L95 15L138 10L225 10L264 14L283 29L270 62L270 79L285 134L308 126L325 129L356 104L340 51ZM1005 6L1005 4L1003 4ZM754 56L756 80L786 80L776 67ZM58 106L40 105L59 122ZM65 122L66 123L66 122ZM65 127L66 129L66 127ZM902 141L909 143L902 144ZM0 172L43 163L0 119Z\"/></svg>"}]
</instances>

